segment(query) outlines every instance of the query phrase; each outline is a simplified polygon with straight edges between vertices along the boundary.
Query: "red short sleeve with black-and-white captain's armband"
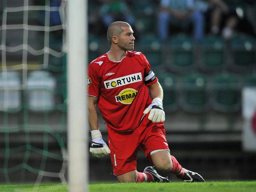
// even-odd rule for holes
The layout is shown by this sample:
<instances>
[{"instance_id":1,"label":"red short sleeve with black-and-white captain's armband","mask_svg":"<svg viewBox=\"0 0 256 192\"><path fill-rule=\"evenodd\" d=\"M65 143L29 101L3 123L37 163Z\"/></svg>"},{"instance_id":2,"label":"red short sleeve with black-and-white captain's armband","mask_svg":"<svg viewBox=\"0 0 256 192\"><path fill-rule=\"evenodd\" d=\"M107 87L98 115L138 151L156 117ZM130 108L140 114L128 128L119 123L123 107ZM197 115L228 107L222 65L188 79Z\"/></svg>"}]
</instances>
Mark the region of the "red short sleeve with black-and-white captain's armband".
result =
<instances>
[{"instance_id":1,"label":"red short sleeve with black-and-white captain's armband","mask_svg":"<svg viewBox=\"0 0 256 192\"><path fill-rule=\"evenodd\" d=\"M146 85L152 85L154 83L156 83L158 81L157 77L155 76L154 72L151 70L151 66L148 63L147 58L145 57L145 55L143 55L142 53L140 53L141 55L141 59L143 60L143 63L145 65L145 71L144 71L144 82Z\"/></svg>"}]
</instances>

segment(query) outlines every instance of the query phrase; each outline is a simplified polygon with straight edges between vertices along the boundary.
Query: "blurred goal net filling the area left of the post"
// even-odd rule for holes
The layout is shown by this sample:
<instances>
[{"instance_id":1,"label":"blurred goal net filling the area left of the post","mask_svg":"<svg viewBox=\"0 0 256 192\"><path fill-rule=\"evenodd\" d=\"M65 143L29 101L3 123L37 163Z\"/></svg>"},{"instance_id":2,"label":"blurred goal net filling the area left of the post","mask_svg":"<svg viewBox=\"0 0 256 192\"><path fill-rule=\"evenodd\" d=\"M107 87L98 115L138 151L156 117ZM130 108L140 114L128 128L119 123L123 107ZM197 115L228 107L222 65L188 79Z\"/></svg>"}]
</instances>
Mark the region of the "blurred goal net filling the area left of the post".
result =
<instances>
[{"instance_id":1,"label":"blurred goal net filling the area left of the post","mask_svg":"<svg viewBox=\"0 0 256 192\"><path fill-rule=\"evenodd\" d=\"M0 182L66 183L66 4L0 1Z\"/></svg>"}]
</instances>

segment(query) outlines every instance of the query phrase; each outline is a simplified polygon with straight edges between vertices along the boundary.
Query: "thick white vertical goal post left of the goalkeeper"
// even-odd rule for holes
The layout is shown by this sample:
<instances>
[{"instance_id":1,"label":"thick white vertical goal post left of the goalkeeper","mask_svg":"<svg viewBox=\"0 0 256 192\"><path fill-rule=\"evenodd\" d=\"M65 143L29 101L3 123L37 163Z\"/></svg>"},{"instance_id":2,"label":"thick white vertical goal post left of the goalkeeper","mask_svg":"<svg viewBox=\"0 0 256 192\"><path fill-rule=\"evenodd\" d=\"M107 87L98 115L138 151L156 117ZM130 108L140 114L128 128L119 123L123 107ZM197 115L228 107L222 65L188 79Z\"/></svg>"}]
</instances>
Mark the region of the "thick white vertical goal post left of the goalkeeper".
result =
<instances>
[{"instance_id":1,"label":"thick white vertical goal post left of the goalkeeper","mask_svg":"<svg viewBox=\"0 0 256 192\"><path fill-rule=\"evenodd\" d=\"M68 185L69 192L88 191L87 147L87 3L68 0Z\"/></svg>"}]
</instances>

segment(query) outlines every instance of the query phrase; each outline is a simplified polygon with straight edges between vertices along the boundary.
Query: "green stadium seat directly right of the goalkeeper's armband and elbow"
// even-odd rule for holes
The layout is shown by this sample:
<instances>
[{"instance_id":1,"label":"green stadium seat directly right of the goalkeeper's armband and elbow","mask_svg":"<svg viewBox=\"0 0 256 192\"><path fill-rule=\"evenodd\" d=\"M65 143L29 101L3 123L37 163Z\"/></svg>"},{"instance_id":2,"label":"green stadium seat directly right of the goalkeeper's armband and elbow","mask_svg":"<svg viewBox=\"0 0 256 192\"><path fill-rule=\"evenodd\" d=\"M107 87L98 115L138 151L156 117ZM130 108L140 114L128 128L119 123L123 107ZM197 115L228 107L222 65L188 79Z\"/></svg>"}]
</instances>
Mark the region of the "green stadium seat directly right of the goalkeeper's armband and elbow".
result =
<instances>
[{"instance_id":1,"label":"green stadium seat directly right of the goalkeeper's armband and elbow","mask_svg":"<svg viewBox=\"0 0 256 192\"><path fill-rule=\"evenodd\" d=\"M179 108L178 77L171 73L156 75L164 90L163 106L165 112L174 112Z\"/></svg>"}]
</instances>

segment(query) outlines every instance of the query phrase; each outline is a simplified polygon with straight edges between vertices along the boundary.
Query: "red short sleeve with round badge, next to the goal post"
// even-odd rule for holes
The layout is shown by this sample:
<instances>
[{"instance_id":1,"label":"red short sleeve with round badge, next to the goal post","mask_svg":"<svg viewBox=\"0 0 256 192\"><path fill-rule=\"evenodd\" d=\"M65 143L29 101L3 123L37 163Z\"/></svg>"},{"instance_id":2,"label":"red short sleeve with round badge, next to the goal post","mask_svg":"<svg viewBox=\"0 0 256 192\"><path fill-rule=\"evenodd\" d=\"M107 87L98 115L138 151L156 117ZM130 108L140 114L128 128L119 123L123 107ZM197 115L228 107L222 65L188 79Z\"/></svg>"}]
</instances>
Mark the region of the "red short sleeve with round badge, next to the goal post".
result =
<instances>
[{"instance_id":1,"label":"red short sleeve with round badge, next to the goal post","mask_svg":"<svg viewBox=\"0 0 256 192\"><path fill-rule=\"evenodd\" d=\"M100 96L100 76L99 76L99 65L90 63L88 67L88 76L86 79L88 88L87 95L93 97Z\"/></svg>"}]
</instances>

